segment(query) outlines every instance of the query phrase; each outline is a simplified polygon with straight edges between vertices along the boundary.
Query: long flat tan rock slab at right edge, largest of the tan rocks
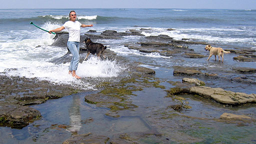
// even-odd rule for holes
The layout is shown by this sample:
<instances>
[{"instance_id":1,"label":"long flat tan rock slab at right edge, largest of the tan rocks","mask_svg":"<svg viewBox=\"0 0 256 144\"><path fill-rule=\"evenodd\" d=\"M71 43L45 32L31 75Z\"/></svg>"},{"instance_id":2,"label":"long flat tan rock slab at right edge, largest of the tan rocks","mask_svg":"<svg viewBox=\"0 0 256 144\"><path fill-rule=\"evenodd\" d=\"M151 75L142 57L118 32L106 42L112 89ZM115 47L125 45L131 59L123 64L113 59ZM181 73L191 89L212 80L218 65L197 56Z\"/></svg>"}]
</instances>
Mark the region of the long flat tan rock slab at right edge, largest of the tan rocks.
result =
<instances>
[{"instance_id":1,"label":"long flat tan rock slab at right edge, largest of the tan rocks","mask_svg":"<svg viewBox=\"0 0 256 144\"><path fill-rule=\"evenodd\" d=\"M194 93L205 98L212 98L220 103L240 105L248 102L256 102L256 94L246 94L242 92L227 91L222 88L211 88L207 86L193 86L189 89Z\"/></svg>"}]
</instances>

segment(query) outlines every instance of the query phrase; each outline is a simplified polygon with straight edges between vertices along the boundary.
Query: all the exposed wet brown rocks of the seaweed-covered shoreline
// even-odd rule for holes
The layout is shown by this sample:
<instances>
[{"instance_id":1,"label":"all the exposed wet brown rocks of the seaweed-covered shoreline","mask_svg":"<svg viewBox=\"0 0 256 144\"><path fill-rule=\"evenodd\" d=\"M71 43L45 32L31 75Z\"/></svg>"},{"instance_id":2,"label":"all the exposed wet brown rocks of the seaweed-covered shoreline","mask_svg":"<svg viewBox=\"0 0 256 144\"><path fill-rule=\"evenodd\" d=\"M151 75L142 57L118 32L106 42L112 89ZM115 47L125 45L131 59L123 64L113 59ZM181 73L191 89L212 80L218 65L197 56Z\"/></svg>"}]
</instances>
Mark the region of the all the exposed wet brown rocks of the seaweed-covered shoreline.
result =
<instances>
[{"instance_id":1,"label":"all the exposed wet brown rocks of the seaweed-covered shoreline","mask_svg":"<svg viewBox=\"0 0 256 144\"><path fill-rule=\"evenodd\" d=\"M130 29L126 32L117 32L114 30L105 30L100 34L97 31L89 30L85 35L81 35L81 42L85 37L92 39L119 39L126 35L138 35L141 36L142 31L148 31L150 29L134 30ZM169 29L172 30L172 29ZM52 46L59 46L66 48L66 40L68 33L59 32L55 36L55 41ZM193 41L192 39L174 40L167 35L158 36L146 36L141 41L136 43L126 43L124 46L129 49L136 49L140 52L151 53L157 52L162 56L180 56L181 58L202 58L207 57L205 54L195 52L194 49L189 48L193 44L208 44L202 41ZM244 49L225 49L237 54L233 57L234 60L239 61L256 61L256 51ZM84 44L80 44L80 62L83 61L83 57L86 54L86 47ZM137 105L130 101L131 95L136 95L134 91L141 91L145 87L155 87L166 89L161 85L161 79L155 77L155 70L141 67L139 63L130 63L127 59L117 56L113 51L106 50L105 55L109 59L117 59L119 62L125 63L130 69L126 72L125 76L118 76L117 78L108 79L98 84L98 91L95 94L85 95L84 100L87 103L95 104L98 107L109 108L105 114L112 117L119 117L118 114L121 110L133 110ZM62 57L54 59L50 62L65 63L70 61L71 56L67 52ZM256 102L255 93L244 93L239 91L224 90L221 87L210 87L207 80L219 79L219 81L233 82L235 84L256 84L256 68L247 67L232 67L232 70L222 69L222 73L219 74L218 69L212 70L205 67L186 67L186 66L172 66L173 75L182 79L182 82L167 81L172 84L172 88L165 90L168 97L179 97L176 104L170 105L170 107L178 112L182 109L189 109L189 104L182 99L182 95L197 95L206 99L214 99L216 102L227 105L239 105L243 106L246 103L254 104ZM5 70L5 72L7 72ZM231 75L231 76L230 76ZM201 81L198 79L206 79ZM77 92L82 92L84 89L79 87L72 87L65 84L54 84L46 80L38 80L36 78L25 78L17 76L5 76L4 72L0 73L0 126L9 126L11 128L22 128L32 122L33 120L40 119L41 114L38 110L29 107L32 104L40 104L49 99L60 98L66 95L70 95ZM253 86L252 86L253 87ZM161 112L161 111L160 111ZM159 112L159 113L160 113ZM224 113L223 113L224 114ZM216 118L217 120L230 120L230 119L245 119L254 122L254 119L249 116L224 114L223 116ZM179 115L179 114L178 114ZM182 115L180 113L180 115ZM229 116L228 116L229 115ZM153 117L153 116L152 116ZM214 119L214 120L216 120ZM161 125L166 126L166 125ZM134 133L133 133L134 134ZM144 133L141 137L148 133ZM159 133L149 133L149 135ZM132 134L131 134L132 135ZM116 139L109 139L107 136L98 136L91 133L73 135L71 138L65 140L63 143L72 143L72 141L82 142L86 139L92 139L92 141L102 141L104 143L139 143L136 140L136 136L123 135ZM161 135L161 134L159 134ZM83 137L83 138L81 138ZM101 137L99 139L99 137ZM135 138L134 138L135 137ZM165 139L166 140L166 139ZM196 141L195 141L196 142Z\"/></svg>"}]
</instances>

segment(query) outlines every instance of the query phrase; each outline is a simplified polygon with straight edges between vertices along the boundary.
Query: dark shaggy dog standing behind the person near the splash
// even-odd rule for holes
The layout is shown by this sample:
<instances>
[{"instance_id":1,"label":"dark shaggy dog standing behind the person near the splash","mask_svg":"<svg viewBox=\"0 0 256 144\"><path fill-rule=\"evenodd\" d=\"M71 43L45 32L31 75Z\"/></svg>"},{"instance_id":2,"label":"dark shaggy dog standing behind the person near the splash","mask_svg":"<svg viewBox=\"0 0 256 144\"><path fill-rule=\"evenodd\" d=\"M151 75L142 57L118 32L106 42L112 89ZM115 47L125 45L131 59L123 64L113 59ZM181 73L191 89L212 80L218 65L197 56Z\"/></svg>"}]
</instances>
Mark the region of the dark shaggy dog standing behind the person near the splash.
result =
<instances>
[{"instance_id":1,"label":"dark shaggy dog standing behind the person near the splash","mask_svg":"<svg viewBox=\"0 0 256 144\"><path fill-rule=\"evenodd\" d=\"M88 57L88 55L89 55L90 53L92 53L93 55L94 55L95 53L97 53L97 56L98 56L98 57L99 57L99 55L101 54L101 55L104 57L104 59L105 59L105 56L104 56L103 54L104 54L104 51L105 51L105 49L106 49L106 46L104 46L104 45L101 44L101 43L94 43L94 42L92 42L92 41L90 40L90 38L88 38L88 37L85 38L84 42L85 42L85 44L86 44L87 51L88 51L88 53L87 53L85 59ZM85 59L84 59L84 60L85 60Z\"/></svg>"}]
</instances>

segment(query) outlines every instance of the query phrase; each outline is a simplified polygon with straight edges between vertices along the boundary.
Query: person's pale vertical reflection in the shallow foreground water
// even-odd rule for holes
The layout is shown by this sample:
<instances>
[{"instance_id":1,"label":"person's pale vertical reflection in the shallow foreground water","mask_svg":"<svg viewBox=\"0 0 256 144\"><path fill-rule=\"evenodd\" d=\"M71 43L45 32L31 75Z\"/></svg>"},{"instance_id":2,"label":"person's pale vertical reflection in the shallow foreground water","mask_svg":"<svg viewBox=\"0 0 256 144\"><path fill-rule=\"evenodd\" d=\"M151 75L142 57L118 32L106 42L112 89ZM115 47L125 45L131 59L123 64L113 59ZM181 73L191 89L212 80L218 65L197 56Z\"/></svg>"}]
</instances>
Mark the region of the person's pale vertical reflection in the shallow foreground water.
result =
<instances>
[{"instance_id":1,"label":"person's pale vertical reflection in the shallow foreground water","mask_svg":"<svg viewBox=\"0 0 256 144\"><path fill-rule=\"evenodd\" d=\"M77 133L81 128L81 115L80 115L80 97L77 94L72 95L72 103L68 108L70 125L67 127L67 131L71 133Z\"/></svg>"}]
</instances>

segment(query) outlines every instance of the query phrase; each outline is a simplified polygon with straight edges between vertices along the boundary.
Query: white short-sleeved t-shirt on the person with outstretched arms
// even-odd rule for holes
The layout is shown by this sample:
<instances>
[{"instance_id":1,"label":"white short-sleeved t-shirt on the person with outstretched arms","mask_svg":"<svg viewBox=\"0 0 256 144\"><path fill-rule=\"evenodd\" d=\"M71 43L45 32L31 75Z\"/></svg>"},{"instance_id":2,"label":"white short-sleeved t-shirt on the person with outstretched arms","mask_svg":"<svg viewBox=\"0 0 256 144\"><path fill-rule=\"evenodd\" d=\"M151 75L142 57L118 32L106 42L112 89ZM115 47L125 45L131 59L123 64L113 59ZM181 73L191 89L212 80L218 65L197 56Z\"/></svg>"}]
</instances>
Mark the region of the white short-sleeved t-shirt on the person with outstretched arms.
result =
<instances>
[{"instance_id":1,"label":"white short-sleeved t-shirt on the person with outstretched arms","mask_svg":"<svg viewBox=\"0 0 256 144\"><path fill-rule=\"evenodd\" d=\"M63 26L67 29L69 37L67 41L80 42L80 26L82 24L79 21L66 21Z\"/></svg>"}]
</instances>

